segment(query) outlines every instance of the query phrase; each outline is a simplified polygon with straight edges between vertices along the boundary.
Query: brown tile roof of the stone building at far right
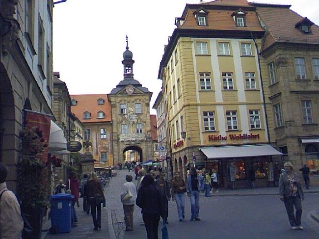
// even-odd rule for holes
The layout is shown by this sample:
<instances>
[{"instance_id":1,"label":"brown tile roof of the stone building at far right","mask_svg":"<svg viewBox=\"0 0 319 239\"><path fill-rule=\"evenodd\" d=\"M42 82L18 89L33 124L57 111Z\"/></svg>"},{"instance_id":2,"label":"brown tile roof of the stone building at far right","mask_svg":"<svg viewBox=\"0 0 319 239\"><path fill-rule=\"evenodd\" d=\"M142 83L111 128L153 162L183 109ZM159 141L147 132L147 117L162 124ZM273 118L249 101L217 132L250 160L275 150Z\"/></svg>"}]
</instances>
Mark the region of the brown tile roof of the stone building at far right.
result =
<instances>
[{"instance_id":1,"label":"brown tile roof of the stone building at far right","mask_svg":"<svg viewBox=\"0 0 319 239\"><path fill-rule=\"evenodd\" d=\"M275 42L319 44L319 27L311 26L311 33L305 34L295 28L303 17L287 7L265 4L265 7L257 6L257 13L266 25L266 37L263 50Z\"/></svg>"}]
</instances>

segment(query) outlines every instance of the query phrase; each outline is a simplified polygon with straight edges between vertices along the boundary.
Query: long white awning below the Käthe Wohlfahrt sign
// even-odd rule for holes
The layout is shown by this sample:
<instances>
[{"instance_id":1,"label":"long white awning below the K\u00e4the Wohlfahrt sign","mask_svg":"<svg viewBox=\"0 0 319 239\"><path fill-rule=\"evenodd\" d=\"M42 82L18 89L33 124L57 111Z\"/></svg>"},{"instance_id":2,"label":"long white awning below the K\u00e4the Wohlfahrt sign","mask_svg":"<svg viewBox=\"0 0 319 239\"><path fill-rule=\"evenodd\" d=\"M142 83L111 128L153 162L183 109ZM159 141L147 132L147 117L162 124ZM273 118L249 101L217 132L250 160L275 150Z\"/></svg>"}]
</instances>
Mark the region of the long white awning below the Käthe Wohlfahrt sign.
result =
<instances>
[{"instance_id":1,"label":"long white awning below the K\u00e4the Wohlfahrt sign","mask_svg":"<svg viewBox=\"0 0 319 239\"><path fill-rule=\"evenodd\" d=\"M282 155L269 144L199 148L208 159Z\"/></svg>"}]
</instances>

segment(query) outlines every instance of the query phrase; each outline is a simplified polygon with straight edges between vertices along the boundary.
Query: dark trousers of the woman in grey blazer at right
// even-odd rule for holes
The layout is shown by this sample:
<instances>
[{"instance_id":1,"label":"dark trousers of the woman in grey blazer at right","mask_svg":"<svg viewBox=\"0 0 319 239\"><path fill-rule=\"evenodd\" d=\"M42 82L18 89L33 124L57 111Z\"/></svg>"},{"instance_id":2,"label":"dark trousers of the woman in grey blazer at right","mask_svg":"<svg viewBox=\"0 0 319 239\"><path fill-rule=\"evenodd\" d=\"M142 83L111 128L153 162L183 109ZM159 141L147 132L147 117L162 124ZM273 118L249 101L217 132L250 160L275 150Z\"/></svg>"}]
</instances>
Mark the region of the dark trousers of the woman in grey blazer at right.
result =
<instances>
[{"instance_id":1,"label":"dark trousers of the woman in grey blazer at right","mask_svg":"<svg viewBox=\"0 0 319 239\"><path fill-rule=\"evenodd\" d=\"M284 203L286 206L290 225L292 226L301 225L301 214L302 214L301 198L298 195L295 197L284 197ZM296 209L295 216L293 213L293 205L294 205L294 208Z\"/></svg>"}]
</instances>

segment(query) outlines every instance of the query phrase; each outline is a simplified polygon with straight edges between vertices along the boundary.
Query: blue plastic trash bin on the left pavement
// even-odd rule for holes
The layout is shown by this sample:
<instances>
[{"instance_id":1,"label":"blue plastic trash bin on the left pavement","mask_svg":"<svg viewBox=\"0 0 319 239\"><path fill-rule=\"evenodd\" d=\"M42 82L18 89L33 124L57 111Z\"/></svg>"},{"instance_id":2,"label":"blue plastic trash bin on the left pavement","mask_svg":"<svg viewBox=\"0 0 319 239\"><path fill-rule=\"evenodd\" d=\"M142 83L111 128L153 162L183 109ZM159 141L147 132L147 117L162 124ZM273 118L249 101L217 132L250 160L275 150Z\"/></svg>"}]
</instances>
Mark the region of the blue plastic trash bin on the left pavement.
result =
<instances>
[{"instance_id":1,"label":"blue plastic trash bin on the left pavement","mask_svg":"<svg viewBox=\"0 0 319 239\"><path fill-rule=\"evenodd\" d=\"M51 226L56 233L71 232L71 200L72 194L58 193L51 195Z\"/></svg>"}]
</instances>

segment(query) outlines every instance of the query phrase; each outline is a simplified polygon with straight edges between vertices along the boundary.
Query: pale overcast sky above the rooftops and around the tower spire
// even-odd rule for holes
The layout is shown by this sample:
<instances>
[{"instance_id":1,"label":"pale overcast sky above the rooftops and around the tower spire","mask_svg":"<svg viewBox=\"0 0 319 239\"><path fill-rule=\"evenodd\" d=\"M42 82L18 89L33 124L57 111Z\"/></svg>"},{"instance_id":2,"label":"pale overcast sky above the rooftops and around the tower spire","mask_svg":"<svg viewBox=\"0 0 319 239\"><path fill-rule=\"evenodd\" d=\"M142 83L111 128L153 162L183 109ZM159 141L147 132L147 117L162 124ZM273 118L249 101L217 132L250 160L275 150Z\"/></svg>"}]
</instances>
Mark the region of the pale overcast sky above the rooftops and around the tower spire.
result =
<instances>
[{"instance_id":1,"label":"pale overcast sky above the rooftops and around the tower spire","mask_svg":"<svg viewBox=\"0 0 319 239\"><path fill-rule=\"evenodd\" d=\"M54 0L57 1L57 0ZM291 4L291 9L319 25L319 0L254 0ZM160 60L167 37L186 3L199 0L67 0L53 8L53 70L70 94L108 94L123 80L126 34L133 52L134 79L160 92Z\"/></svg>"}]
</instances>

